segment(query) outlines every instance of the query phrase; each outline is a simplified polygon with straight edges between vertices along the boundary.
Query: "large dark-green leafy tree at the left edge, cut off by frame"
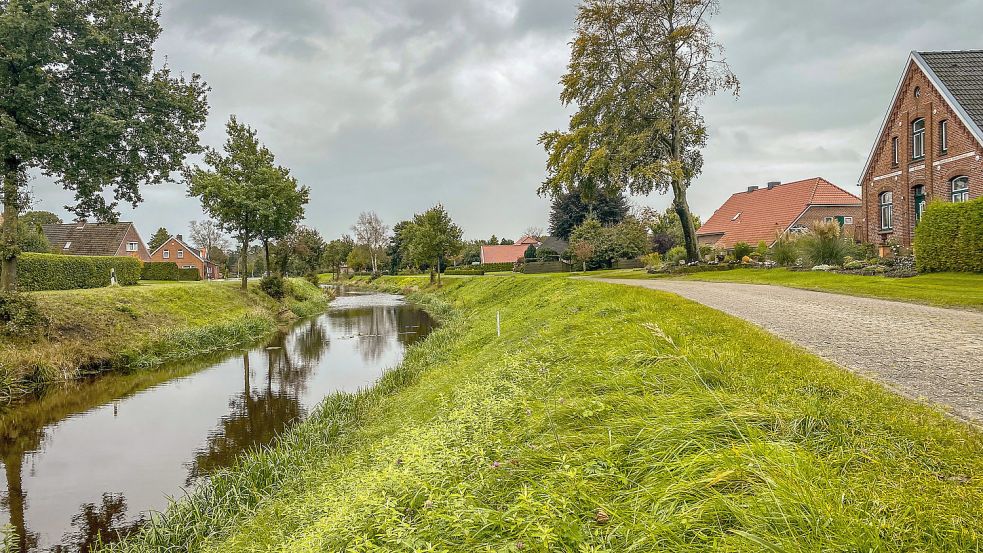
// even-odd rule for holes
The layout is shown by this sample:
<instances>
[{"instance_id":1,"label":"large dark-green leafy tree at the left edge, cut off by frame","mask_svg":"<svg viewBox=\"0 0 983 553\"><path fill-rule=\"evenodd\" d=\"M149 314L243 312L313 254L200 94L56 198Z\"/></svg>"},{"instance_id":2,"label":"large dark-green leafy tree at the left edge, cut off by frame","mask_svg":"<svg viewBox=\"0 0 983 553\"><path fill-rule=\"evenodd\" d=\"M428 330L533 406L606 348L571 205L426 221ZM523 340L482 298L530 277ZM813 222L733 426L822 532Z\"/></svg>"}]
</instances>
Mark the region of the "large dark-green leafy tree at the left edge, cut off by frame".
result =
<instances>
[{"instance_id":1,"label":"large dark-green leafy tree at the left edge, cut off by frame","mask_svg":"<svg viewBox=\"0 0 983 553\"><path fill-rule=\"evenodd\" d=\"M74 191L69 209L79 217L115 220L119 201L136 206L141 185L169 180L201 151L208 88L198 75L154 69L161 28L152 2L0 6L0 289L12 291L28 170Z\"/></svg>"}]
</instances>

